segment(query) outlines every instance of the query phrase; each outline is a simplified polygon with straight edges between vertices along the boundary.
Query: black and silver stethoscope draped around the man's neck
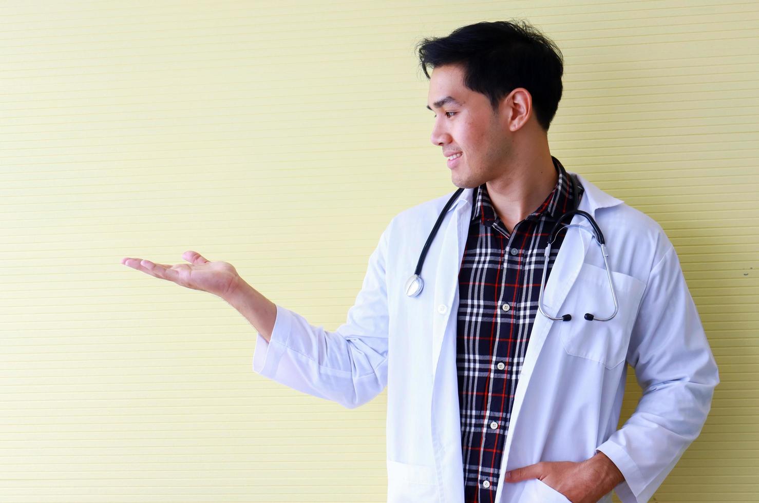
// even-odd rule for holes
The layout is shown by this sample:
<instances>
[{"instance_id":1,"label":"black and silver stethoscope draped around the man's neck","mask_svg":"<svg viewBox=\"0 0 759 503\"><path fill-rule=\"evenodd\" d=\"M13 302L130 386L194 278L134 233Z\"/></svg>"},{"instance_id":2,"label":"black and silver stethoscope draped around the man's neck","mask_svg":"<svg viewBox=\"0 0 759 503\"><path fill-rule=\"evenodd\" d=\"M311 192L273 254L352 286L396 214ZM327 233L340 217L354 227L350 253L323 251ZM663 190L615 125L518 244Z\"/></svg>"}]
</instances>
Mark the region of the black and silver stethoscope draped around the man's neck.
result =
<instances>
[{"instance_id":1,"label":"black and silver stethoscope draped around the man's neck","mask_svg":"<svg viewBox=\"0 0 759 503\"><path fill-rule=\"evenodd\" d=\"M617 303L616 298L616 291L614 291L614 283L612 281L612 273L609 269L609 252L606 250L606 241L603 239L603 233L601 232L601 229L598 227L598 224L596 223L595 219L589 215L587 212L582 211L581 209L578 209L579 201L578 201L578 185L580 182L578 181L575 174L571 174L572 178L572 193L574 195L574 201L575 201L575 209L569 210L568 212L565 212L563 215L561 215L559 218L556 219L556 222L553 224L553 228L551 229L550 239L548 240L548 244L546 245L546 250L543 252L544 261L543 261L543 276L540 278L540 294L538 296L537 300L537 308L540 310L540 314L543 316L546 316L548 319L553 319L554 321L562 321L562 322L568 322L570 319L572 319L571 314L565 314L562 316L559 316L558 318L554 318L553 316L550 316L548 313L546 313L543 310L543 291L546 288L546 272L548 270L548 261L551 254L551 244L553 244L553 241L556 240L556 236L559 234L559 231L561 231L563 228L570 228L570 227L576 227L580 228L586 232L589 231L586 227L578 224L565 224L563 227L560 227L562 222L564 222L566 219L574 216L574 215L580 215L584 217L587 222L590 222L591 227L593 228L593 231L591 232L591 236L596 241L596 243L601 248L601 254L603 255L603 266L606 269L606 278L609 279L609 290L612 292L612 298L614 300L614 312L611 314L611 316L608 316L607 318L599 318L594 314L591 313L585 313L584 318L587 319L587 321L593 321L594 319L599 322L607 322L609 319L612 319L614 316L616 316L617 311L619 311L619 304ZM477 189L474 189L475 193L472 198L472 215L474 215L474 202L477 200ZM419 256L419 261L417 262L417 268L414 269L414 274L411 275L411 278L408 278L408 281L406 281L405 290L408 297L416 297L419 295L424 288L424 281L421 278L421 272L422 272L422 265L424 264L424 259L427 256L427 250L430 250L430 244L432 244L433 239L435 238L435 234L437 234L438 229L440 228L440 224L442 224L443 218L446 217L446 213L448 212L448 209L451 207L453 202L458 199L458 196L461 195L461 193L464 192L464 188L461 187L458 190L453 193L451 196L451 199L448 200L448 203L446 203L446 206L442 207L442 212L440 212L440 215L437 217L437 221L435 222L435 225L432 228L432 232L430 232L430 236L427 237L427 242L424 243L424 248L422 248L422 253Z\"/></svg>"}]
</instances>

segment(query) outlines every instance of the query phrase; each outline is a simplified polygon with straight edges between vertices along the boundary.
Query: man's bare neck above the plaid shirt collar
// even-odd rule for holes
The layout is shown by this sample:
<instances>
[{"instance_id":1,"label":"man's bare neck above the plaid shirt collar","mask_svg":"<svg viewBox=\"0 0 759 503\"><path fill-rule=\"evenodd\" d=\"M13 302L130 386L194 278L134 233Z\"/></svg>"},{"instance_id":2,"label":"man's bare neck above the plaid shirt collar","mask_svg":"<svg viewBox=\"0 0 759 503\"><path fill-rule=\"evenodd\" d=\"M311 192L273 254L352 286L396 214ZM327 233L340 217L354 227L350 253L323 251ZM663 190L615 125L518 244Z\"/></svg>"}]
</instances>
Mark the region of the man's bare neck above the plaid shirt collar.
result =
<instances>
[{"instance_id":1,"label":"man's bare neck above the plaid shirt collar","mask_svg":"<svg viewBox=\"0 0 759 503\"><path fill-rule=\"evenodd\" d=\"M487 182L487 194L511 232L546 200L558 180L550 151L544 149L510 162L501 176Z\"/></svg>"}]
</instances>

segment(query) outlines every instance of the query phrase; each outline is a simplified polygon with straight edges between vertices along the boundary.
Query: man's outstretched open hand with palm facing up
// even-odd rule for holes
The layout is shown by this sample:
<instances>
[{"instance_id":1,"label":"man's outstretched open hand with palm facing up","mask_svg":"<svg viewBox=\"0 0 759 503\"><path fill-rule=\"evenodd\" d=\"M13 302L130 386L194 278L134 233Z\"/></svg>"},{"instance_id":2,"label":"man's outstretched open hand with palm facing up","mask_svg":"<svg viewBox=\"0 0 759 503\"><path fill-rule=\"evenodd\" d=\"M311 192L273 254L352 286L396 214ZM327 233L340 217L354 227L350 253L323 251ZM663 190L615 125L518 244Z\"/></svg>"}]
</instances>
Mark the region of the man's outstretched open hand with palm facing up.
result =
<instances>
[{"instance_id":1,"label":"man's outstretched open hand with palm facing up","mask_svg":"<svg viewBox=\"0 0 759 503\"><path fill-rule=\"evenodd\" d=\"M181 263L168 266L167 264L156 264L147 259L131 257L121 259L121 263L155 278L172 281L185 288L207 291L224 299L228 298L238 288L241 278L230 263L209 262L200 253L192 250L182 253L182 258L187 260L189 264Z\"/></svg>"}]
</instances>

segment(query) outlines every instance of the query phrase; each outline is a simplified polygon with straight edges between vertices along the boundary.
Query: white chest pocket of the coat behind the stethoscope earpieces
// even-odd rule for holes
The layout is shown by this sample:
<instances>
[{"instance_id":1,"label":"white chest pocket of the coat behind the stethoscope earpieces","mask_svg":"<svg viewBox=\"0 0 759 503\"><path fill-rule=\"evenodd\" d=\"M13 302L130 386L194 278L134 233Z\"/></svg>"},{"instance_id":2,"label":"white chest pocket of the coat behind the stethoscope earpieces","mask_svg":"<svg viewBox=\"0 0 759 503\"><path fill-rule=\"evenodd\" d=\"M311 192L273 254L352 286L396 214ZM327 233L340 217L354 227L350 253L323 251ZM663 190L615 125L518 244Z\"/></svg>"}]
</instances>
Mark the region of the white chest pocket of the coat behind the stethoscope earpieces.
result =
<instances>
[{"instance_id":1,"label":"white chest pocket of the coat behind the stethoscope earpieces","mask_svg":"<svg viewBox=\"0 0 759 503\"><path fill-rule=\"evenodd\" d=\"M606 318L614 312L606 269L583 263L556 316L571 314L569 321L557 321L559 338L567 354L603 363L613 368L625 360L630 332L638 314L645 284L643 281L612 272L619 311L609 321L585 319L585 313Z\"/></svg>"}]
</instances>

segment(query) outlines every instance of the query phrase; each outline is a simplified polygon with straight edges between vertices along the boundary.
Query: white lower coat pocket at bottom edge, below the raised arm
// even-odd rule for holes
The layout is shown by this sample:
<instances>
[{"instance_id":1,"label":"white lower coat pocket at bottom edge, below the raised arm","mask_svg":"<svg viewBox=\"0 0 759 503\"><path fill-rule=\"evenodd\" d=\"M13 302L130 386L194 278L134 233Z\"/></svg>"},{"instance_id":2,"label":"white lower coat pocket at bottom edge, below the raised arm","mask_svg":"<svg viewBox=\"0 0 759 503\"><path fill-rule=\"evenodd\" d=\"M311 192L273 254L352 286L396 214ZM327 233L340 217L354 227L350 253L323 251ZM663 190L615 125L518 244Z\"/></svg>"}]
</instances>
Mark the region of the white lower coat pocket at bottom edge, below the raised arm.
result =
<instances>
[{"instance_id":1,"label":"white lower coat pocket at bottom edge, below the raised arm","mask_svg":"<svg viewBox=\"0 0 759 503\"><path fill-rule=\"evenodd\" d=\"M387 460L388 503L438 501L435 467Z\"/></svg>"}]
</instances>

